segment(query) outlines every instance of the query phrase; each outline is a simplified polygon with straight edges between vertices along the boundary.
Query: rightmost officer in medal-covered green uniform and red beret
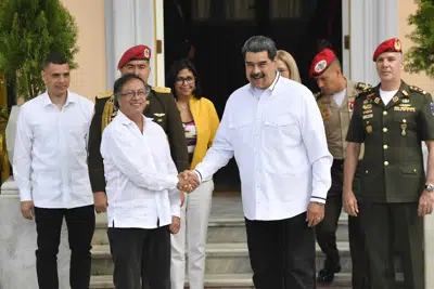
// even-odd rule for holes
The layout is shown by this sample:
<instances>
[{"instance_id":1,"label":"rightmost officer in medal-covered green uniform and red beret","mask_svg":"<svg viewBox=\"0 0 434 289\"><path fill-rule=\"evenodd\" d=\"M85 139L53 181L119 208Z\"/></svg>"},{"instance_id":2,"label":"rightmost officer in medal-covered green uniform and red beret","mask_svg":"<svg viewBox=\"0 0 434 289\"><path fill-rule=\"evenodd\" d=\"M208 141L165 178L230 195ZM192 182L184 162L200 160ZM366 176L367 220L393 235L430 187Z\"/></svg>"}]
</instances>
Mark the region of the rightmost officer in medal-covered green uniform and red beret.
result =
<instances>
[{"instance_id":1,"label":"rightmost officer in medal-covered green uniform and red beret","mask_svg":"<svg viewBox=\"0 0 434 289\"><path fill-rule=\"evenodd\" d=\"M361 224L370 261L371 289L394 289L394 241L404 270L404 288L423 289L423 218L434 203L434 103L425 91L401 80L398 39L381 43L374 54L378 87L356 98L346 140L344 209L362 205ZM429 148L427 174L422 144ZM365 156L361 194L352 184L361 144Z\"/></svg>"}]
</instances>

